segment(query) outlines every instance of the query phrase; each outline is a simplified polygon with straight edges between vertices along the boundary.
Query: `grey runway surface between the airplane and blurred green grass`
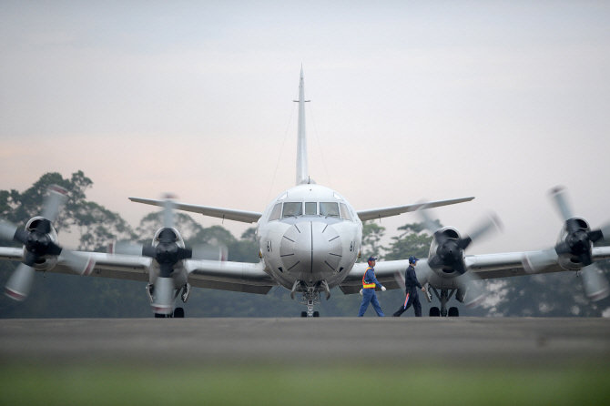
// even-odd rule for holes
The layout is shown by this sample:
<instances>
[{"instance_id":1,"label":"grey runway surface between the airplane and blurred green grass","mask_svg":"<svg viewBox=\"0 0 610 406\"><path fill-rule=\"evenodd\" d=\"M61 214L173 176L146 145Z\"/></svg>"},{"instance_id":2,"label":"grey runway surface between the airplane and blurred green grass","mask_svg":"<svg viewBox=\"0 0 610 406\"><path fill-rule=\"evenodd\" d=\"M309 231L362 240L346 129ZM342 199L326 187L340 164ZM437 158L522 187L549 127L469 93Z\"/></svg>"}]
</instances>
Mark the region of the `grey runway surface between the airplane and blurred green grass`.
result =
<instances>
[{"instance_id":1,"label":"grey runway surface between the airplane and blurred green grass","mask_svg":"<svg viewBox=\"0 0 610 406\"><path fill-rule=\"evenodd\" d=\"M0 320L0 360L607 365L610 320Z\"/></svg>"}]
</instances>

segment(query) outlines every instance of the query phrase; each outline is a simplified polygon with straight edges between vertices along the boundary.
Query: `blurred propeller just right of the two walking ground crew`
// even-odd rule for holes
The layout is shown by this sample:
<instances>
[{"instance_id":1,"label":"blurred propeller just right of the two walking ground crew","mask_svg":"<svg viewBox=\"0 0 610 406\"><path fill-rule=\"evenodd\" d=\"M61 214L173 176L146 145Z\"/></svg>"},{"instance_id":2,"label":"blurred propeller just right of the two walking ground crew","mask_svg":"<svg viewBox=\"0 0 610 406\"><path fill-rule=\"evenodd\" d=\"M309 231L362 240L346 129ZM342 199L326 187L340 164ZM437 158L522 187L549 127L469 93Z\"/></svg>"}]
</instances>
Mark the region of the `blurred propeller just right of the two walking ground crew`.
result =
<instances>
[{"instance_id":1,"label":"blurred propeller just right of the two walking ground crew","mask_svg":"<svg viewBox=\"0 0 610 406\"><path fill-rule=\"evenodd\" d=\"M495 214L490 214L488 218L484 219L478 227L474 228L473 232L469 236L460 237L459 234L452 228L439 228L438 225L432 221L426 212L424 211L425 205L419 208L418 211L422 217L425 228L432 231L432 238L436 242L437 248L431 258L428 259L428 265L432 269L442 269L442 272L450 274L453 271L457 272L459 276L457 280L459 284L463 286L463 298L460 301L468 308L478 307L483 299L485 299L486 292L480 289L477 281L481 280L473 272L467 272L466 265L463 261L464 251L473 243L475 240L481 239L484 235L489 234L493 230L501 230L502 223L500 218Z\"/></svg>"}]
</instances>

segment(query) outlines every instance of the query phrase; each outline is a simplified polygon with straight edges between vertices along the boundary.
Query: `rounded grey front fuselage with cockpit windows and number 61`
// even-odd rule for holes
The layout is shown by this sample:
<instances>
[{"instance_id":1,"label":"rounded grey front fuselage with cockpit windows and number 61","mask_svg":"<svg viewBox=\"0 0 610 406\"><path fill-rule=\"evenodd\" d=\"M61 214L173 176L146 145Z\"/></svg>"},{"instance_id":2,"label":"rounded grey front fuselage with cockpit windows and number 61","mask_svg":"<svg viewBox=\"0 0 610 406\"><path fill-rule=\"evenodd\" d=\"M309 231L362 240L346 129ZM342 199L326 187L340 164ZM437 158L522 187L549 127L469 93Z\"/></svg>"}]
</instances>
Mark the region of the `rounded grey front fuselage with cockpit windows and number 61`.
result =
<instances>
[{"instance_id":1,"label":"rounded grey front fuselage with cockpit windows and number 61","mask_svg":"<svg viewBox=\"0 0 610 406\"><path fill-rule=\"evenodd\" d=\"M339 193L303 183L273 199L259 219L257 239L265 270L281 286L325 281L333 288L358 259L362 222Z\"/></svg>"}]
</instances>

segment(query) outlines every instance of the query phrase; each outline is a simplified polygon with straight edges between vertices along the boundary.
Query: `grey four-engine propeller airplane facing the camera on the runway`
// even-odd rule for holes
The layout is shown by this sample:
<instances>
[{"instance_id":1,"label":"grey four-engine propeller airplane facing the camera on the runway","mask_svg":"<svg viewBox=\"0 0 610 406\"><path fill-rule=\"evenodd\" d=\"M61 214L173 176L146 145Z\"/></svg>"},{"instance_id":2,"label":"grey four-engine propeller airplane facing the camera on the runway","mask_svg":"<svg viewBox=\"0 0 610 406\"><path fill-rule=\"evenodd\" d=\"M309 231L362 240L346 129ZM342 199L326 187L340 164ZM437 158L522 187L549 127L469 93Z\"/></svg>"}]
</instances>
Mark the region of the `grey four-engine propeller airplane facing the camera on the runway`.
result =
<instances>
[{"instance_id":1,"label":"grey four-engine propeller airplane facing the camera on the runway","mask_svg":"<svg viewBox=\"0 0 610 406\"><path fill-rule=\"evenodd\" d=\"M90 275L148 281L148 298L156 317L184 317L183 310L175 308L174 301L180 292L181 299L186 301L190 287L267 294L270 289L278 286L289 289L292 299L297 294L301 295L301 303L307 308L301 312L301 317L319 317L320 313L314 311L314 306L320 304L322 293L326 299L330 299L330 289L334 287L339 287L344 294L355 294L361 289L361 279L367 264L356 261L361 256L363 221L414 211L423 213L422 210L425 209L473 200L473 197L454 198L356 210L341 194L317 185L309 176L302 67L299 100L295 102L299 103L296 186L280 193L263 212L176 201L168 205L167 199L129 198L134 202L163 207L166 212L169 212L170 206L171 209L223 220L256 223L258 263L192 259L177 254L172 257L171 264L162 266L162 256L153 255L153 250L160 244L171 246L175 252L185 249L178 229L164 227L158 230L153 246L146 248L147 252L145 248L141 248L141 251L127 249L127 252L118 254L76 252L76 256L95 262L95 269ZM476 306L484 298L484 292L476 286L477 279L527 275L531 269L524 265L524 258L537 258L542 255L540 252L546 252L465 255L470 242L497 226L497 223L496 220L490 220L470 237L464 238L456 228L434 230L430 255L428 259L422 259L416 269L418 280L427 288L426 299L431 301L434 292L441 302L441 309L432 308L430 316L459 316L457 308L447 309L453 293L456 293L455 299L458 301L467 306ZM164 234L164 229L170 229L171 234ZM14 230L13 226L5 232L5 238L11 230ZM610 234L610 229L604 228L599 233L602 236L600 239L605 239ZM591 246L590 249L589 258L592 261L610 258L610 247ZM23 260L29 252L27 245L23 249L0 248L0 259ZM58 257L55 252L47 252L45 258L40 257L35 262L31 266L37 270L46 267L46 271L72 272L66 259ZM387 289L399 289L404 287L402 273L407 266L406 259L379 261L375 274ZM541 273L564 270L568 269L558 260L547 261L544 267L536 269ZM441 294L438 293L439 290ZM26 292L20 291L19 295L24 299Z\"/></svg>"}]
</instances>

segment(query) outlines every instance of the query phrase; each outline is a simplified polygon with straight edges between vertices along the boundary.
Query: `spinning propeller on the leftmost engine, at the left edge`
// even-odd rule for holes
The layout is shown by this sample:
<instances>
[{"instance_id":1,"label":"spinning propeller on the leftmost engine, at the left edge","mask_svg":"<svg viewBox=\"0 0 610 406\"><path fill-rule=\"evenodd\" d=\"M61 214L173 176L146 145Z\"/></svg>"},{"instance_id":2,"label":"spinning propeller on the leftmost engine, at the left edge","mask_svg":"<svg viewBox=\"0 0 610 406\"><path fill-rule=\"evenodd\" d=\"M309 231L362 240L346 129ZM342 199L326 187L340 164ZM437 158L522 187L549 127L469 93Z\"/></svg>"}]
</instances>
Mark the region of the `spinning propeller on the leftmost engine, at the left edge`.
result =
<instances>
[{"instance_id":1,"label":"spinning propeller on the leftmost engine, at the left edge","mask_svg":"<svg viewBox=\"0 0 610 406\"><path fill-rule=\"evenodd\" d=\"M34 266L47 258L61 255L66 266L81 275L88 275L95 266L94 259L62 249L55 243L56 233L51 223L64 204L67 191L56 185L50 186L48 191L43 214L30 220L29 230L18 228L8 221L0 222L0 239L14 240L25 245L24 260L5 285L5 294L11 299L21 301L27 297L34 281Z\"/></svg>"}]
</instances>

